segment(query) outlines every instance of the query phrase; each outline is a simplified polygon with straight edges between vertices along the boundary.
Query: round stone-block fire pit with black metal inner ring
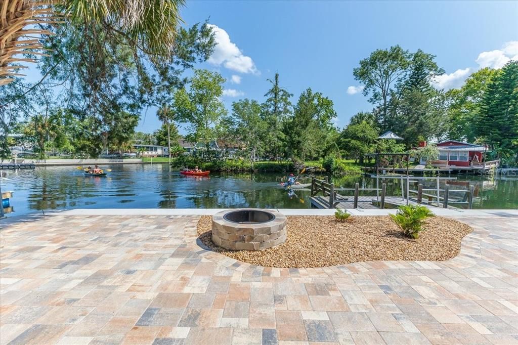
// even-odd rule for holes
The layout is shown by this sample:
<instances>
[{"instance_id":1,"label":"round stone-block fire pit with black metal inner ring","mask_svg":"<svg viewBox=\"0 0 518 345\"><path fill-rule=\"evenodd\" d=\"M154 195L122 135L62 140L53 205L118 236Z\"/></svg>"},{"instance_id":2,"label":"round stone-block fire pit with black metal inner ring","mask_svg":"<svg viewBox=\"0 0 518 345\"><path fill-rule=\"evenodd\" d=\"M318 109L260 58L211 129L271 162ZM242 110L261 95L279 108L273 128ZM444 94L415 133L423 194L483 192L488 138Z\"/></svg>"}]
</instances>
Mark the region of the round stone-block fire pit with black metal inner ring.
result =
<instances>
[{"instance_id":1,"label":"round stone-block fire pit with black metal inner ring","mask_svg":"<svg viewBox=\"0 0 518 345\"><path fill-rule=\"evenodd\" d=\"M272 210L240 208L212 217L212 242L229 250L261 250L286 241L286 217Z\"/></svg>"}]
</instances>

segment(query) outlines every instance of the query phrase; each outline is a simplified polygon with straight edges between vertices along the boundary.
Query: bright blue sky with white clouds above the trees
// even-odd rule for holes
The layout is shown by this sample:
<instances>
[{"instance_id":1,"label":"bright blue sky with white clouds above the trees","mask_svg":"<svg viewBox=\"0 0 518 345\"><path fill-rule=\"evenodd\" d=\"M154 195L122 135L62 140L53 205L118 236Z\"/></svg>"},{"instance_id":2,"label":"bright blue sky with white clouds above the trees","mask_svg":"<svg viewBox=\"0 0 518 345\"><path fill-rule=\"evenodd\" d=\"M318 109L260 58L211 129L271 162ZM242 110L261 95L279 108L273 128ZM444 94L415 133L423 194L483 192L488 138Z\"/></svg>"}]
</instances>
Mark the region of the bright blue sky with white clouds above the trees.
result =
<instances>
[{"instance_id":1,"label":"bright blue sky with white clouds above the trees","mask_svg":"<svg viewBox=\"0 0 518 345\"><path fill-rule=\"evenodd\" d=\"M206 19L217 26L216 55L198 67L227 79L225 89L234 90L223 97L228 109L239 98L262 102L266 79L278 72L293 103L308 87L331 98L340 127L372 109L368 97L348 88L358 90L353 68L373 50L399 44L437 55L447 74L438 82L443 88L518 59L518 2L188 1L181 15L189 26ZM159 126L148 109L137 130Z\"/></svg>"}]
</instances>

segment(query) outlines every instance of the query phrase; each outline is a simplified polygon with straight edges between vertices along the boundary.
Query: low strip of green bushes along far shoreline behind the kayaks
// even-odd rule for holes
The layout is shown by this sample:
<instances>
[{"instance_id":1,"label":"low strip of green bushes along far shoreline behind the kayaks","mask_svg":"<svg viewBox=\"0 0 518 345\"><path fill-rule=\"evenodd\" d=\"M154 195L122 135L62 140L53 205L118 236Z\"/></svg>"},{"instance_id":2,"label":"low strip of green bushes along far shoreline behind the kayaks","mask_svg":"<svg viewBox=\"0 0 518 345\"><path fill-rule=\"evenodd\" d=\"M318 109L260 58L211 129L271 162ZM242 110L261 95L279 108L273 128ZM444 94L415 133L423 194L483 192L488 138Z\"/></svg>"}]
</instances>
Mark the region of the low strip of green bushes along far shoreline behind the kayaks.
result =
<instances>
[{"instance_id":1,"label":"low strip of green bushes along far shoreline behind the kayaks","mask_svg":"<svg viewBox=\"0 0 518 345\"><path fill-rule=\"evenodd\" d=\"M163 162L162 160L153 159L153 163ZM167 162L167 159L166 159ZM193 168L198 166L202 170L210 170L214 172L297 172L303 168L312 173L327 173L335 176L361 174L362 169L353 161L340 159L327 159L320 161L308 162L291 162L291 161L259 161L250 162L239 159L217 160L204 162L196 159L196 157L177 157L171 161L171 167L174 168Z\"/></svg>"}]
</instances>

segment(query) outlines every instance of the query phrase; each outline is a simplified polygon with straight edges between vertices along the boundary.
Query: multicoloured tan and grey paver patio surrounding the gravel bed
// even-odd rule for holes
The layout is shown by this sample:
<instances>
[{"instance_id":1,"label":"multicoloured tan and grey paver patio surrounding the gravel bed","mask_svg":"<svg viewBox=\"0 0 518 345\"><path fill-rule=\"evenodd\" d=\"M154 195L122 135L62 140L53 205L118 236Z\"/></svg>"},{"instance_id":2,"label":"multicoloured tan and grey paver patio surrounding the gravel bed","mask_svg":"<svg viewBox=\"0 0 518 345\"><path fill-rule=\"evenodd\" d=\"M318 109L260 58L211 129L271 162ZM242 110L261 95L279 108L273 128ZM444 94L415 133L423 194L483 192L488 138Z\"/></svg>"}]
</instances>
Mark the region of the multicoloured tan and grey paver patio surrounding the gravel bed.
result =
<instances>
[{"instance_id":1,"label":"multicoloured tan and grey paver patio surrounding the gravel bed","mask_svg":"<svg viewBox=\"0 0 518 345\"><path fill-rule=\"evenodd\" d=\"M198 216L4 221L2 344L518 343L518 218L474 227L448 262L315 269L196 244Z\"/></svg>"}]
</instances>

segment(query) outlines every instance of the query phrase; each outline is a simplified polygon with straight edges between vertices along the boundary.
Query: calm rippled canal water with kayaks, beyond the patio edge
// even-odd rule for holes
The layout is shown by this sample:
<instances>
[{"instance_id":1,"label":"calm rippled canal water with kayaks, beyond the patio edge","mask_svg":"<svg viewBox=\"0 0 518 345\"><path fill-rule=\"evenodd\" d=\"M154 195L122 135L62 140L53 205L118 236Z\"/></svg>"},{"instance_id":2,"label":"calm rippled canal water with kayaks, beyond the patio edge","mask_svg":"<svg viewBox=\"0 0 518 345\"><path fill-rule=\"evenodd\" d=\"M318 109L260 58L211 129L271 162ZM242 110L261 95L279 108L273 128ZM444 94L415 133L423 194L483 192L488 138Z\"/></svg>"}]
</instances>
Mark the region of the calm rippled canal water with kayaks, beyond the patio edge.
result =
<instances>
[{"instance_id":1,"label":"calm rippled canal water with kayaks, beyond the patio edge","mask_svg":"<svg viewBox=\"0 0 518 345\"><path fill-rule=\"evenodd\" d=\"M74 167L2 170L2 191L14 192L11 206L15 212L11 215L70 208L311 207L309 190L290 194L278 188L281 174L211 174L210 178L197 178L169 172L167 165L161 164L103 168L112 169L107 177L84 177ZM457 178L455 189L476 185L474 208L518 208L518 177ZM334 182L343 188L352 188L356 182L366 188L376 186L375 179L361 176ZM398 181L387 182L387 195L401 195Z\"/></svg>"}]
</instances>

